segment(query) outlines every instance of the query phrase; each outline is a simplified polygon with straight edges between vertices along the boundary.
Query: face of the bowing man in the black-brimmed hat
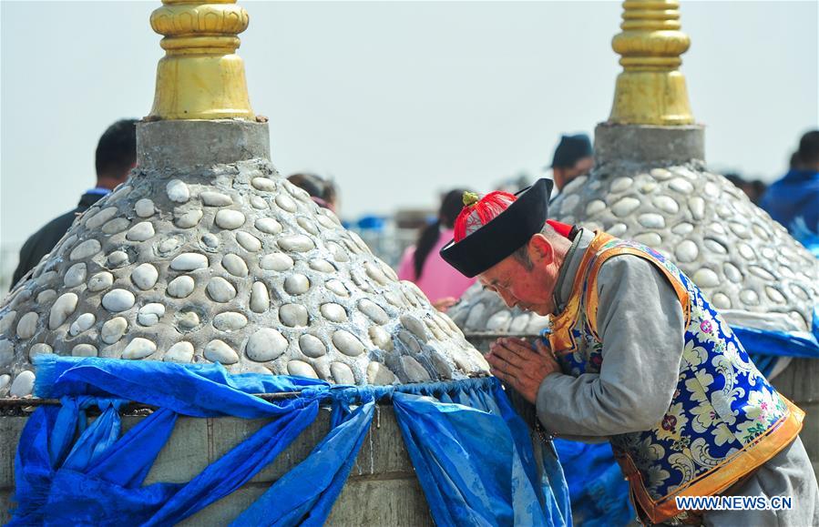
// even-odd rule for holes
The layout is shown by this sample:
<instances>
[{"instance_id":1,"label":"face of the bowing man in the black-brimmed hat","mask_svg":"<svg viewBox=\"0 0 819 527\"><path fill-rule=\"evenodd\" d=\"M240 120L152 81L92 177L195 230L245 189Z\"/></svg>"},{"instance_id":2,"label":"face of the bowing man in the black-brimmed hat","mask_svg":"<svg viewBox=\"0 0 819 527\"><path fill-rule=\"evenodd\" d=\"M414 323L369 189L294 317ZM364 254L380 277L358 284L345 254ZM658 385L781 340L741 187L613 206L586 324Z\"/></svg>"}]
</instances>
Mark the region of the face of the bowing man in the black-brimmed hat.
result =
<instances>
[{"instance_id":1,"label":"face of the bowing man in the black-brimmed hat","mask_svg":"<svg viewBox=\"0 0 819 527\"><path fill-rule=\"evenodd\" d=\"M548 241L540 235L541 240ZM495 291L509 308L518 307L534 311L538 315L548 315L554 311L552 291L558 279L558 268L551 258L543 258L539 251L527 246L531 268L519 259L510 256L480 274L478 279L486 289ZM549 246L550 247L550 246ZM551 253L549 253L550 255Z\"/></svg>"}]
</instances>

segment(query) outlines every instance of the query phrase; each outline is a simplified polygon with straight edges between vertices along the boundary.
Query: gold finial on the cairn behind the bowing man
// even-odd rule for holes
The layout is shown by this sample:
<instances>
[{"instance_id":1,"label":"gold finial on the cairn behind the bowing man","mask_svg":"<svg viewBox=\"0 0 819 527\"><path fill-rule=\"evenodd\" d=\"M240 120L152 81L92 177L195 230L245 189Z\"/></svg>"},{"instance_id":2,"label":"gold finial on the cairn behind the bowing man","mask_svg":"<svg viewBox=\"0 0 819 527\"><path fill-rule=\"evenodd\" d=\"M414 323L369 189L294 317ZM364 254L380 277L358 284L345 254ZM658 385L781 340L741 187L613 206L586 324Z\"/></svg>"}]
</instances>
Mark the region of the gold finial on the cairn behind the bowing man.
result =
<instances>
[{"instance_id":1,"label":"gold finial on the cairn behind the bowing man","mask_svg":"<svg viewBox=\"0 0 819 527\"><path fill-rule=\"evenodd\" d=\"M691 125L680 56L691 40L680 31L677 0L623 2L622 33L611 47L621 58L609 122L619 125Z\"/></svg>"}]
</instances>

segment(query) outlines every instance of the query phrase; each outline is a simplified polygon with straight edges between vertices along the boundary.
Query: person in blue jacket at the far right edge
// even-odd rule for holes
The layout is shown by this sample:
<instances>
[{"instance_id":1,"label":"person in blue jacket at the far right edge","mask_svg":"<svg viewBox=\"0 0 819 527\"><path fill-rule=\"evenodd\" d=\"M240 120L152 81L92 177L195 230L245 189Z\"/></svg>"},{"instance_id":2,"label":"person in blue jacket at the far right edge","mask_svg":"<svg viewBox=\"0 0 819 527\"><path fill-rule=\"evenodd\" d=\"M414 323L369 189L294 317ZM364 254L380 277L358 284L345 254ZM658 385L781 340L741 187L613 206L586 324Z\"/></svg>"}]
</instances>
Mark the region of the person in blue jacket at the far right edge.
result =
<instances>
[{"instance_id":1,"label":"person in blue jacket at the far right edge","mask_svg":"<svg viewBox=\"0 0 819 527\"><path fill-rule=\"evenodd\" d=\"M800 139L790 170L768 187L760 207L819 256L819 130Z\"/></svg>"}]
</instances>

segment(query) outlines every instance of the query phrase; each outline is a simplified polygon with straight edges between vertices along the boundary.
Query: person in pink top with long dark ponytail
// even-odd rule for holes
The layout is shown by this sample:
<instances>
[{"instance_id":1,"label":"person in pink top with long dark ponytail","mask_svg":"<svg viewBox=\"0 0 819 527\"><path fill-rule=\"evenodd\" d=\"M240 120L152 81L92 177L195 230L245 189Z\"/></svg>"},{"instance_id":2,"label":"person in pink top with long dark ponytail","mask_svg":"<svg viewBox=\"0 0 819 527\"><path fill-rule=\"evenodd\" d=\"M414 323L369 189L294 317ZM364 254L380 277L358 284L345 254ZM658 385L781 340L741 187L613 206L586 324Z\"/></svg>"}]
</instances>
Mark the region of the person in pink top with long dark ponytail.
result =
<instances>
[{"instance_id":1,"label":"person in pink top with long dark ponytail","mask_svg":"<svg viewBox=\"0 0 819 527\"><path fill-rule=\"evenodd\" d=\"M439 254L453 238L453 225L464 208L465 190L450 190L441 201L438 218L421 230L415 245L406 248L398 265L398 278L415 282L435 309L445 311L475 283L446 264Z\"/></svg>"}]
</instances>

